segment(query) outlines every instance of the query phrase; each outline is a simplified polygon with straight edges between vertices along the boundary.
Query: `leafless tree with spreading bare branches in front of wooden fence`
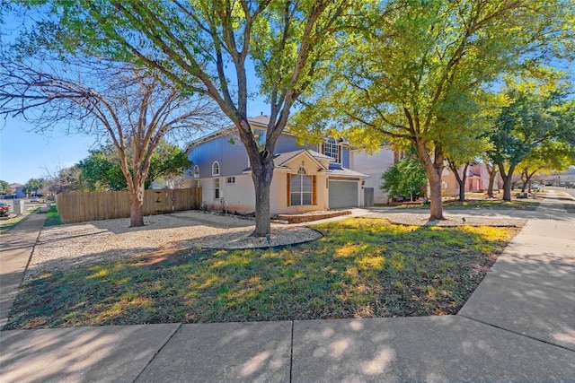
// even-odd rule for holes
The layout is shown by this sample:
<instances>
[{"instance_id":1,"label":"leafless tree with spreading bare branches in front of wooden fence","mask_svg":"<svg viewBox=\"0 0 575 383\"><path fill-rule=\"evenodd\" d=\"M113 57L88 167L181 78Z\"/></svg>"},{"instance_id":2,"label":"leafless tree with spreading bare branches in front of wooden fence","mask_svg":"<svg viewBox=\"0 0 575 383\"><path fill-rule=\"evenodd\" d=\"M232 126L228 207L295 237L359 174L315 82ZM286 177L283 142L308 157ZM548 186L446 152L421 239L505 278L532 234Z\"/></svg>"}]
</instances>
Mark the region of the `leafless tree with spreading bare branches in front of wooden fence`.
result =
<instances>
[{"instance_id":1,"label":"leafless tree with spreading bare branches in front of wooden fence","mask_svg":"<svg viewBox=\"0 0 575 383\"><path fill-rule=\"evenodd\" d=\"M145 182L156 148L176 130L195 134L218 116L217 109L134 65L89 57L74 64L45 70L15 57L0 63L0 114L29 118L38 131L67 122L76 132L107 136L126 179L130 226L143 226Z\"/></svg>"}]
</instances>

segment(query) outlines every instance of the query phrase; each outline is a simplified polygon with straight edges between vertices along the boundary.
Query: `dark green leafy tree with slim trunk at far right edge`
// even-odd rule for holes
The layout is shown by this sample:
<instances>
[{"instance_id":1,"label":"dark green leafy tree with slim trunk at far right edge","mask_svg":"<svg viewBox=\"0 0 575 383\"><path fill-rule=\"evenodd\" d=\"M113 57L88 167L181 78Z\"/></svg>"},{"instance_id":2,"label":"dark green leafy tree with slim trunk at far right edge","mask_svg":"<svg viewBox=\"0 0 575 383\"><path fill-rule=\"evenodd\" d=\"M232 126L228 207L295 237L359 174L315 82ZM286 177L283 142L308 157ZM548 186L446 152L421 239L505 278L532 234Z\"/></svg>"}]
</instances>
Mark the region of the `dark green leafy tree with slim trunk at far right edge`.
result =
<instances>
[{"instance_id":1,"label":"dark green leafy tree with slim trunk at far right edge","mask_svg":"<svg viewBox=\"0 0 575 383\"><path fill-rule=\"evenodd\" d=\"M502 108L490 135L488 155L503 179L503 200L511 200L515 170L531 154L536 158L545 147L573 142L573 102L565 102L564 91L552 82L511 82L505 90L509 105ZM553 151L548 152L553 153Z\"/></svg>"}]
</instances>

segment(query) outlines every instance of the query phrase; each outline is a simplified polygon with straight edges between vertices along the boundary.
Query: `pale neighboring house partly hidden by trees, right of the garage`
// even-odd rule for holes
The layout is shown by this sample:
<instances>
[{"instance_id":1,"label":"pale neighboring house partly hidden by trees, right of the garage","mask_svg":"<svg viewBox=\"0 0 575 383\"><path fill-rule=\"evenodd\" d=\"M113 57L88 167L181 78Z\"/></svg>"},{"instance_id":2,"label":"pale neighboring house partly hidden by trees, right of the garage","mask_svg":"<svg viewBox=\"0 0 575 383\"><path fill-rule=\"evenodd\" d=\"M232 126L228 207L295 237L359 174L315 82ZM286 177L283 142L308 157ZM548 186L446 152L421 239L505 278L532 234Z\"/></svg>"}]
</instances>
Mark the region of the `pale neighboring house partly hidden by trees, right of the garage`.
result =
<instances>
[{"instance_id":1,"label":"pale neighboring house partly hidden by trees, right of the garage","mask_svg":"<svg viewBox=\"0 0 575 383\"><path fill-rule=\"evenodd\" d=\"M363 189L366 196L373 193L374 204L389 203L387 192L381 189L381 176L397 161L399 161L399 153L394 152L387 145L381 145L379 151L374 153L360 150L351 152L351 169L369 176L365 180ZM364 197L364 199L367 201L369 198Z\"/></svg>"}]
</instances>

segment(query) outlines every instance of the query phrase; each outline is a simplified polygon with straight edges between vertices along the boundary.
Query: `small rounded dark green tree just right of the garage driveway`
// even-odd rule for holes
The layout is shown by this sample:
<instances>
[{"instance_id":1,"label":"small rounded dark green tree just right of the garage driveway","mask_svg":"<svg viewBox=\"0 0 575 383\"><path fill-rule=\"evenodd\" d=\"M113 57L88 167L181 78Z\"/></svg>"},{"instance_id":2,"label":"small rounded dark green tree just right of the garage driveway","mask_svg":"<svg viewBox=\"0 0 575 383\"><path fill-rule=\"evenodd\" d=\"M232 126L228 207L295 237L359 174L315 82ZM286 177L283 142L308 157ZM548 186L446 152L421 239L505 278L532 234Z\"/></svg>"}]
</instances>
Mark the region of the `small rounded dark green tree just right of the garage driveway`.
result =
<instances>
[{"instance_id":1,"label":"small rounded dark green tree just right of the garage driveway","mask_svg":"<svg viewBox=\"0 0 575 383\"><path fill-rule=\"evenodd\" d=\"M390 196L403 196L411 200L425 193L428 182L425 169L415 158L394 163L381 178L383 180L381 189L388 192Z\"/></svg>"}]
</instances>

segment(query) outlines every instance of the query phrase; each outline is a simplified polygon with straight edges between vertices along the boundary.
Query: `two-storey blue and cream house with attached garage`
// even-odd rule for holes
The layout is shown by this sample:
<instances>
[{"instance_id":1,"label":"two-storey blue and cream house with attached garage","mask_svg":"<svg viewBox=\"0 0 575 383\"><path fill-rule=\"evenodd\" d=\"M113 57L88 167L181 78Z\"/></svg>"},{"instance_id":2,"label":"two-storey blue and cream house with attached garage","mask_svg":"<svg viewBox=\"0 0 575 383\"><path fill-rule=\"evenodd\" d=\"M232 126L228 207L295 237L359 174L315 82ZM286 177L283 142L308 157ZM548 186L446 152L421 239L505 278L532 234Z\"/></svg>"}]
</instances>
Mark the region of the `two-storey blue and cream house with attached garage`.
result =
<instances>
[{"instance_id":1,"label":"two-storey blue and cream house with attached garage","mask_svg":"<svg viewBox=\"0 0 575 383\"><path fill-rule=\"evenodd\" d=\"M250 118L263 144L270 118ZM187 187L201 187L202 205L237 213L255 211L255 193L247 152L234 126L199 138L188 146L193 167ZM270 213L303 213L360 206L367 176L349 169L348 144L328 138L323 144L297 144L286 129L276 143L270 187Z\"/></svg>"}]
</instances>

